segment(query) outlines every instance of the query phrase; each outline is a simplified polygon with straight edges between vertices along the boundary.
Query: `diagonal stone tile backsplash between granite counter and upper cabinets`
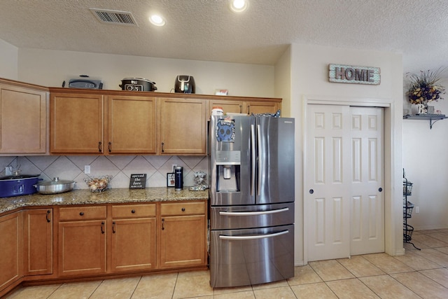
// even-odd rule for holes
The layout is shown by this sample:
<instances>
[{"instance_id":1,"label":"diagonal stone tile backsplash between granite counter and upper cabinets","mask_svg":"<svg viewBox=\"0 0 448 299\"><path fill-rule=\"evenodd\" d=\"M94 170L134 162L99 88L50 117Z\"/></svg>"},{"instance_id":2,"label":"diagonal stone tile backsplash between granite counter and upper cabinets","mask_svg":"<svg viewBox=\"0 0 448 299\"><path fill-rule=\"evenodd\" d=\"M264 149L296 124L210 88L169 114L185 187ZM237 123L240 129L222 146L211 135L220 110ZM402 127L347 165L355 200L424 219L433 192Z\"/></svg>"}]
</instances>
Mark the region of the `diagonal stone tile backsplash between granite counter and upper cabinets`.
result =
<instances>
[{"instance_id":1,"label":"diagonal stone tile backsplash between granite counter and upper cabinets","mask_svg":"<svg viewBox=\"0 0 448 299\"><path fill-rule=\"evenodd\" d=\"M84 174L84 166L90 165L90 174ZM50 181L54 177L76 181L75 189L87 189L84 178L113 176L111 188L129 188L131 174L146 174L146 188L166 187L167 173L172 165L183 167L183 186L195 185L195 172L207 173L207 156L161 156L161 155L35 155L0 157L0 176L5 168L20 167L21 174L41 174L41 179Z\"/></svg>"}]
</instances>

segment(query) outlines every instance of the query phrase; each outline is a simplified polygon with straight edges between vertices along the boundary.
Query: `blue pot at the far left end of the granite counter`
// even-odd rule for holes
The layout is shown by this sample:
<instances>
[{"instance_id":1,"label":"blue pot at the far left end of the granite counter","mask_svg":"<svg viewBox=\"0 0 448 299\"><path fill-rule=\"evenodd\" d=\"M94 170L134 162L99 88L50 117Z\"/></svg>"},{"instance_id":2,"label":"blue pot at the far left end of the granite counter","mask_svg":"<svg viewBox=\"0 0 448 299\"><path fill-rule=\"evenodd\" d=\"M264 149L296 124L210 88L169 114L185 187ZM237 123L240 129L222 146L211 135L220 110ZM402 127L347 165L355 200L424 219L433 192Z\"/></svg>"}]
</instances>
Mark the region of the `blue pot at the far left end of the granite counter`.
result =
<instances>
[{"instance_id":1,"label":"blue pot at the far left end of the granite counter","mask_svg":"<svg viewBox=\"0 0 448 299\"><path fill-rule=\"evenodd\" d=\"M0 177L0 197L29 195L37 192L34 185L40 174L19 174Z\"/></svg>"}]
</instances>

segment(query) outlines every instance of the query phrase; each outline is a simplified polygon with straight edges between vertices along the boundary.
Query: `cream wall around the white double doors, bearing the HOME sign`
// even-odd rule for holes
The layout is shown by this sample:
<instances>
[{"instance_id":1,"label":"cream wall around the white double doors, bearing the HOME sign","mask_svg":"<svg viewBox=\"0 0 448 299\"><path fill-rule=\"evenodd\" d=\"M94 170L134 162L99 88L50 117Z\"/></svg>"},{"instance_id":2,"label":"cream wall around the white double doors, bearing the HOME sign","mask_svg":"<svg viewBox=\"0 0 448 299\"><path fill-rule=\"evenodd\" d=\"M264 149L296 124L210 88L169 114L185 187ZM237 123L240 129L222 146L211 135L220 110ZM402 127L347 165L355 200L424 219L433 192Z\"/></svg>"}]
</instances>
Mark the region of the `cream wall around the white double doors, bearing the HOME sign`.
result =
<instances>
[{"instance_id":1,"label":"cream wall around the white double doors, bearing the HOME sign","mask_svg":"<svg viewBox=\"0 0 448 299\"><path fill-rule=\"evenodd\" d=\"M283 66L276 71L288 77L290 72L290 113L296 118L295 135L295 264L307 261L303 242L306 235L303 198L304 183L304 127L305 109L309 101L386 105L385 109L385 217L386 252L403 254L402 246L402 57L400 54L369 50L353 50L328 46L293 44L290 49L290 69ZM286 58L283 58L286 59ZM342 84L328 81L328 64L349 64L381 68L380 85ZM280 65L278 66L280 68ZM308 166L309 167L309 166Z\"/></svg>"}]
</instances>

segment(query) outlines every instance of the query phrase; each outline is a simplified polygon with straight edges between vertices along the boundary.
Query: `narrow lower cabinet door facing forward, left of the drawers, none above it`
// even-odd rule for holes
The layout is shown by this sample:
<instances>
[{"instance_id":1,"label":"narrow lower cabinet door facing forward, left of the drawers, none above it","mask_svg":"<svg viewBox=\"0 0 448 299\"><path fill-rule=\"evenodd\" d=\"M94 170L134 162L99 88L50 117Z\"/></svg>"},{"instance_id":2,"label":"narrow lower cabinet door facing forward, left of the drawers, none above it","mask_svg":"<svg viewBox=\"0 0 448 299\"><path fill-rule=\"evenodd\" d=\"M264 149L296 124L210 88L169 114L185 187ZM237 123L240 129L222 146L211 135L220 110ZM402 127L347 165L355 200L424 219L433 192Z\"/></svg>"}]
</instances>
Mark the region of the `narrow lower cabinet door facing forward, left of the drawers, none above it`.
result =
<instances>
[{"instance_id":1,"label":"narrow lower cabinet door facing forward, left of the drawers, none above it","mask_svg":"<svg viewBox=\"0 0 448 299\"><path fill-rule=\"evenodd\" d=\"M52 209L24 211L24 275L52 274Z\"/></svg>"}]
</instances>

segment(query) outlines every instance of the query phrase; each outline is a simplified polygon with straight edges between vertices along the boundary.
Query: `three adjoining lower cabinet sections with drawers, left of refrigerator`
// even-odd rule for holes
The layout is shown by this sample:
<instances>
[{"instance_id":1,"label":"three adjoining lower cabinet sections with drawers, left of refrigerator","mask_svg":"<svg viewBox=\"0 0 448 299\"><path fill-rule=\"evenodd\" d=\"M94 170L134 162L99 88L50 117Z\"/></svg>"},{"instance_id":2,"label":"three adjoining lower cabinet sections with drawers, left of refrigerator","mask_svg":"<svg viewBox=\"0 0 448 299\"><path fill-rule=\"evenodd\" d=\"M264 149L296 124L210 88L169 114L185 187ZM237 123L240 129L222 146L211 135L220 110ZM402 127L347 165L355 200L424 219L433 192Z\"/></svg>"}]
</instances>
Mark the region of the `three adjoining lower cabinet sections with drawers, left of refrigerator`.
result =
<instances>
[{"instance_id":1,"label":"three adjoining lower cabinet sections with drawers, left of refrigerator","mask_svg":"<svg viewBox=\"0 0 448 299\"><path fill-rule=\"evenodd\" d=\"M59 207L57 277L206 267L206 211L205 200Z\"/></svg>"}]
</instances>

